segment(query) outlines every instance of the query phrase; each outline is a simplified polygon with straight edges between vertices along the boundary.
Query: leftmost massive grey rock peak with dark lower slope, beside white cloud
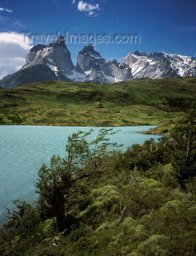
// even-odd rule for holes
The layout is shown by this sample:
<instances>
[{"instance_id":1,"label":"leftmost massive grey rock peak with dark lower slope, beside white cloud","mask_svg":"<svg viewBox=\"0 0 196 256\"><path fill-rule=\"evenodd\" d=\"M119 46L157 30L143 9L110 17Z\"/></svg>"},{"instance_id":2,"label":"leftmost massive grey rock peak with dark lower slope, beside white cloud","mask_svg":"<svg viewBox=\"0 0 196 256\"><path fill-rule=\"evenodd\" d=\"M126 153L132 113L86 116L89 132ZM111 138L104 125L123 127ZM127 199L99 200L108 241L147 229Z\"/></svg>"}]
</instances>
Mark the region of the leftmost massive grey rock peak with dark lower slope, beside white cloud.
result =
<instances>
[{"instance_id":1,"label":"leftmost massive grey rock peak with dark lower slope, beside white cloud","mask_svg":"<svg viewBox=\"0 0 196 256\"><path fill-rule=\"evenodd\" d=\"M33 46L26 56L26 65L1 79L0 86L11 89L25 83L45 80L72 82L67 75L71 74L75 66L64 40L62 37L60 39L47 46Z\"/></svg>"}]
</instances>

